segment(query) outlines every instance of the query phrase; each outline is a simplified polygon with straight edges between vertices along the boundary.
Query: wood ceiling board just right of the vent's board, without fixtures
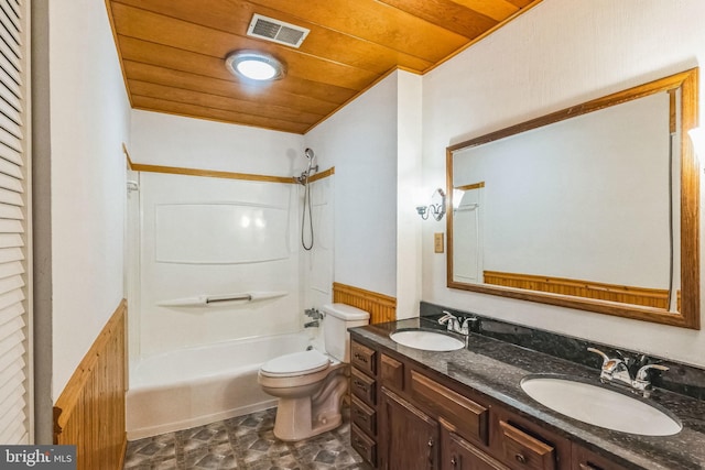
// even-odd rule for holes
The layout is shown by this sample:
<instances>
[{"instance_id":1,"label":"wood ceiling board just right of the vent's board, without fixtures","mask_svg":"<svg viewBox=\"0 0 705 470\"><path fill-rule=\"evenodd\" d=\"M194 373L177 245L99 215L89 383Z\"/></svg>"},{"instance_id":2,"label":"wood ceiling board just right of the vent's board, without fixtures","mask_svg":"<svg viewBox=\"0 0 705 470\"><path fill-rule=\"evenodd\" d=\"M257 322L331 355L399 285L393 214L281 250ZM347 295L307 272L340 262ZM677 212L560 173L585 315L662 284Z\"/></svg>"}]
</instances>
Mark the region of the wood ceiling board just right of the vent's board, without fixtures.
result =
<instances>
[{"instance_id":1,"label":"wood ceiling board just right of the vent's board, without fixtures","mask_svg":"<svg viewBox=\"0 0 705 470\"><path fill-rule=\"evenodd\" d=\"M436 63L467 37L375 0L253 0L312 23Z\"/></svg>"}]
</instances>

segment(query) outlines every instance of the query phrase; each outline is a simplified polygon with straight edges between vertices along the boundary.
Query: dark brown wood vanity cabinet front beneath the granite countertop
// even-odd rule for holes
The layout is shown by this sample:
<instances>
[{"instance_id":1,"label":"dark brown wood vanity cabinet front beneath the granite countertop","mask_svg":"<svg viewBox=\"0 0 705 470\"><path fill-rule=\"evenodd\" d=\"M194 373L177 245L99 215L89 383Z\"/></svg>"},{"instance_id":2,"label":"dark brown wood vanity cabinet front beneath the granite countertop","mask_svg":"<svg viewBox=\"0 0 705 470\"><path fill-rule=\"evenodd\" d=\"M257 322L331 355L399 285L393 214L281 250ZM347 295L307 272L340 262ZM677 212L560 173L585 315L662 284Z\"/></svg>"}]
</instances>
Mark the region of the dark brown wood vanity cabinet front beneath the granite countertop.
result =
<instances>
[{"instance_id":1,"label":"dark brown wood vanity cabinet front beneath the granite countertop","mask_svg":"<svg viewBox=\"0 0 705 470\"><path fill-rule=\"evenodd\" d=\"M625 470L373 342L351 342L352 447L380 470Z\"/></svg>"}]
</instances>

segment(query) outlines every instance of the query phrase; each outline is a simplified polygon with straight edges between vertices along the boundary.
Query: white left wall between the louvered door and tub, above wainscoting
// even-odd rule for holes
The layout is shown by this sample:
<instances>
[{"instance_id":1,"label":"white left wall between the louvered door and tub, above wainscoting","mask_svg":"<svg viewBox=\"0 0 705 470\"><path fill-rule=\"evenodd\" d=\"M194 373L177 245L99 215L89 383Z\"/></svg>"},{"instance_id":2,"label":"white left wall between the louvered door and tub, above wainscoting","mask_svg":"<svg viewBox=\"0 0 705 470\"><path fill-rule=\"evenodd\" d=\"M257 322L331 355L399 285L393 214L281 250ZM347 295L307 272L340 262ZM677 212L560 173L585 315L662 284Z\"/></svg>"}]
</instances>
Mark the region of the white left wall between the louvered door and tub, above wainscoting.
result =
<instances>
[{"instance_id":1,"label":"white left wall between the louvered door and tub, above wainscoting","mask_svg":"<svg viewBox=\"0 0 705 470\"><path fill-rule=\"evenodd\" d=\"M123 295L130 111L104 2L48 2L53 400Z\"/></svg>"}]
</instances>

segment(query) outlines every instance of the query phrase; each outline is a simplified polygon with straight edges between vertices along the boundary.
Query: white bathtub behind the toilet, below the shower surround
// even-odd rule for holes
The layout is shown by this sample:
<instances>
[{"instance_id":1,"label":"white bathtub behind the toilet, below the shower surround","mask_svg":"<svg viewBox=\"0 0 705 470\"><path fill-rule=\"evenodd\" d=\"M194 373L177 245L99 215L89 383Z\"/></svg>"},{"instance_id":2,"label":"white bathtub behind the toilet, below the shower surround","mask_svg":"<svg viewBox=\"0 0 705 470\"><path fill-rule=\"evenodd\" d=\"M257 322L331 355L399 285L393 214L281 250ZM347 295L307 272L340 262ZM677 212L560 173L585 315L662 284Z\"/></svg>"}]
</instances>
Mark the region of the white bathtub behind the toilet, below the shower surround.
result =
<instances>
[{"instance_id":1,"label":"white bathtub behind the toilet, below the shower surround","mask_svg":"<svg viewBox=\"0 0 705 470\"><path fill-rule=\"evenodd\" d=\"M141 439L265 409L276 398L257 383L262 363L303 351L307 335L279 335L170 351L130 367L127 437Z\"/></svg>"}]
</instances>

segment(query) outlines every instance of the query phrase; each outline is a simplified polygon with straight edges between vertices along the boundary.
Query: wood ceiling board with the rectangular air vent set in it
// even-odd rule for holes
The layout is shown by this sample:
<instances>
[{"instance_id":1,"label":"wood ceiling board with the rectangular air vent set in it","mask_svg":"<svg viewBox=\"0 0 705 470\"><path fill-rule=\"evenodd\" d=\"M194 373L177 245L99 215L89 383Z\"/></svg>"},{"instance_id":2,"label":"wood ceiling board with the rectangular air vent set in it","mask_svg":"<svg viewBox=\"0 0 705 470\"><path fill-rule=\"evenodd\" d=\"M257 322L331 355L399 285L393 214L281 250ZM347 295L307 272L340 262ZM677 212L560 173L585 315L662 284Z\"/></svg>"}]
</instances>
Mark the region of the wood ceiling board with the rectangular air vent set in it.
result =
<instances>
[{"instance_id":1,"label":"wood ceiling board with the rectangular air vent set in it","mask_svg":"<svg viewBox=\"0 0 705 470\"><path fill-rule=\"evenodd\" d=\"M430 61L400 53L383 44L360 40L248 1L202 0L197 9L193 8L193 0L150 0L149 2L117 0L117 2L247 39L249 37L246 33L254 13L274 18L311 30L299 48L300 52L378 74L384 74L397 65L416 72L425 70L433 65ZM260 43L260 40L253 40ZM275 55L276 51L286 47L272 43L264 44L271 47L270 52Z\"/></svg>"}]
</instances>

